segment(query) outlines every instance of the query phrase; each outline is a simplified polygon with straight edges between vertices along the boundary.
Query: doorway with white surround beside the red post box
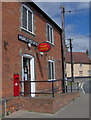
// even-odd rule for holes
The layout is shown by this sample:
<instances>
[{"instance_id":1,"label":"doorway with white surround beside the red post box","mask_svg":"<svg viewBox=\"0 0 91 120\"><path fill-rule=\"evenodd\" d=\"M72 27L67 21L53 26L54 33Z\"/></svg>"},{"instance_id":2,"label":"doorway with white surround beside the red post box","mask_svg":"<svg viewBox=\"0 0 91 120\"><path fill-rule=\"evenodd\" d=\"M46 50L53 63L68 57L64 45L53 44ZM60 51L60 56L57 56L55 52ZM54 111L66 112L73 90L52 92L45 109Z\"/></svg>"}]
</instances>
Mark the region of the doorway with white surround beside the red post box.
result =
<instances>
[{"instance_id":1,"label":"doorway with white surround beside the red post box","mask_svg":"<svg viewBox=\"0 0 91 120\"><path fill-rule=\"evenodd\" d=\"M22 56L22 89L21 92L24 96L35 97L35 71L34 71L34 57L31 55L24 54Z\"/></svg>"}]
</instances>

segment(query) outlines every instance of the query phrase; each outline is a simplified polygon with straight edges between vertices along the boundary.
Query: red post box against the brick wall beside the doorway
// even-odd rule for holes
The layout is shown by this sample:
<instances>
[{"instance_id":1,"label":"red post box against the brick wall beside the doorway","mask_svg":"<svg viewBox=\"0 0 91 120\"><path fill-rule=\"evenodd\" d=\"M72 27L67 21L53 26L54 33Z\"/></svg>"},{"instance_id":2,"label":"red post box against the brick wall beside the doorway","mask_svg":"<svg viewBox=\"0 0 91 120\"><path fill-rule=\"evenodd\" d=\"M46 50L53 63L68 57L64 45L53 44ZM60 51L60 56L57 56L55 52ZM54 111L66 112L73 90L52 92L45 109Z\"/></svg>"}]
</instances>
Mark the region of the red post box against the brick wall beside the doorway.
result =
<instances>
[{"instance_id":1,"label":"red post box against the brick wall beside the doorway","mask_svg":"<svg viewBox=\"0 0 91 120\"><path fill-rule=\"evenodd\" d=\"M19 74L14 74L14 96L19 96L20 90L19 90Z\"/></svg>"}]
</instances>

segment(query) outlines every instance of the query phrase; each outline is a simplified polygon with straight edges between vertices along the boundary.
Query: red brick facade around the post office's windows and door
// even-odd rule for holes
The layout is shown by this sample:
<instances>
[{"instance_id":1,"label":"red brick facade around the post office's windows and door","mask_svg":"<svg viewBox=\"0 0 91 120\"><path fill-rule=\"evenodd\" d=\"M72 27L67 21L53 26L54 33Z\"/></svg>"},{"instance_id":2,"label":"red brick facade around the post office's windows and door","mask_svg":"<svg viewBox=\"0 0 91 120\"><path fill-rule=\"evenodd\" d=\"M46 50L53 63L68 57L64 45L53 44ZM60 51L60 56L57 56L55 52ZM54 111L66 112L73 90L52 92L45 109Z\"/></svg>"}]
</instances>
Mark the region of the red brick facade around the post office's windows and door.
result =
<instances>
[{"instance_id":1,"label":"red brick facade around the post office's windows and door","mask_svg":"<svg viewBox=\"0 0 91 120\"><path fill-rule=\"evenodd\" d=\"M56 64L56 79L62 78L62 56L60 31L48 22L40 13L34 10L34 31L35 36L21 30L21 3L5 2L2 5L2 35L3 35L3 97L13 96L13 74L19 73L21 80L21 64L22 54L31 54L35 57L35 74L36 80L48 80L48 59L53 59ZM41 57L38 50L34 46L29 48L26 43L18 40L18 34L28 37L38 43L46 42L46 23L50 23L54 29L55 46ZM4 41L8 42L4 48ZM59 84L60 85L60 84ZM37 84L36 89L48 89L49 83ZM57 84L58 86L58 84Z\"/></svg>"}]
</instances>

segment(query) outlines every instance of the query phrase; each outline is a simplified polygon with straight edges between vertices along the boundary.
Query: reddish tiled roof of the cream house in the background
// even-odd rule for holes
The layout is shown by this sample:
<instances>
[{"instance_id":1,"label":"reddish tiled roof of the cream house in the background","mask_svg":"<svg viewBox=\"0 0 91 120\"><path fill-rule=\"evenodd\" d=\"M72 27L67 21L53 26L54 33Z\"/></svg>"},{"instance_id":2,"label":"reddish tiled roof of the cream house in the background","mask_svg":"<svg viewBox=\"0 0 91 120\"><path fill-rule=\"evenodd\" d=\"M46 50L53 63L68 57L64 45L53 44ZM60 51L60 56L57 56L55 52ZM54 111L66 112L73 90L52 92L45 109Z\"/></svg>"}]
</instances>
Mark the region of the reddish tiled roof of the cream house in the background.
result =
<instances>
[{"instance_id":1,"label":"reddish tiled roof of the cream house in the background","mask_svg":"<svg viewBox=\"0 0 91 120\"><path fill-rule=\"evenodd\" d=\"M91 63L88 55L85 52L72 52L74 63ZM65 61L70 63L71 57L70 52L66 53Z\"/></svg>"}]
</instances>

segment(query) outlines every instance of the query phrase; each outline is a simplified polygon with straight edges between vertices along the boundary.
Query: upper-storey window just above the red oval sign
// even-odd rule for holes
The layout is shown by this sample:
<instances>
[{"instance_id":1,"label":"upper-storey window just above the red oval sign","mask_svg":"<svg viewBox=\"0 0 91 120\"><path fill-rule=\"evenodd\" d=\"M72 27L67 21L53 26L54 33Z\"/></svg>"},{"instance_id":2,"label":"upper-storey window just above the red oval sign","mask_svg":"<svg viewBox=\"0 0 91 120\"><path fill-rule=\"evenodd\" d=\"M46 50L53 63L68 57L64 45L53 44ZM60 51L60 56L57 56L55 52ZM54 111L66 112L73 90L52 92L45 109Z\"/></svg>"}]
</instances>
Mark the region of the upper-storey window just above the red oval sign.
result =
<instances>
[{"instance_id":1,"label":"upper-storey window just above the red oval sign","mask_svg":"<svg viewBox=\"0 0 91 120\"><path fill-rule=\"evenodd\" d=\"M47 24L47 42L54 45L53 28L49 24Z\"/></svg>"}]
</instances>

